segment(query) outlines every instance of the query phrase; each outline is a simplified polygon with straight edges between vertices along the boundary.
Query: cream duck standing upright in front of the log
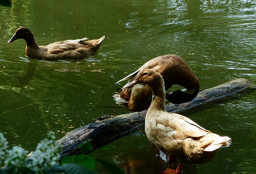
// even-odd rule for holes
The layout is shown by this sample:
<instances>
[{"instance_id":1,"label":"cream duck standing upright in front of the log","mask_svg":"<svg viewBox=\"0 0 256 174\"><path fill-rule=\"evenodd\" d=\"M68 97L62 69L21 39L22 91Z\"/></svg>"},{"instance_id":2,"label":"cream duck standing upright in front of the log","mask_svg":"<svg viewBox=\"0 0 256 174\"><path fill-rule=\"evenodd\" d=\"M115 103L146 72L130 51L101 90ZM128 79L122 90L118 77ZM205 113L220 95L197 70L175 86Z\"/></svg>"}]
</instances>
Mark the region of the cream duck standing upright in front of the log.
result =
<instances>
[{"instance_id":1,"label":"cream duck standing upright in front of the log","mask_svg":"<svg viewBox=\"0 0 256 174\"><path fill-rule=\"evenodd\" d=\"M219 136L187 117L166 112L164 80L160 73L144 69L128 87L138 83L149 85L153 91L145 119L148 140L169 155L169 162L172 159L180 163L177 170L168 168L164 173L179 173L181 166L186 164L206 163L212 160L220 147L230 146L231 138L228 136Z\"/></svg>"}]
</instances>

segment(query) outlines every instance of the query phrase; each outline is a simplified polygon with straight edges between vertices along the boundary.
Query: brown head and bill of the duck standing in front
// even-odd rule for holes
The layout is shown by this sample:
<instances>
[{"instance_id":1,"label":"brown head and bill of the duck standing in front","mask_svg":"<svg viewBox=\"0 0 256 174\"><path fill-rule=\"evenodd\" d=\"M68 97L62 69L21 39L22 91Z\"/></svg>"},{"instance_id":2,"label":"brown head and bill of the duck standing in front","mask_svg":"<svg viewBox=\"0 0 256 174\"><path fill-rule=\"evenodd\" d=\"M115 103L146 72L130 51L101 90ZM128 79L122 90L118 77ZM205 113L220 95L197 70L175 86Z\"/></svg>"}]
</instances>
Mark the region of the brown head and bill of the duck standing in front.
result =
<instances>
[{"instance_id":1,"label":"brown head and bill of the duck standing in front","mask_svg":"<svg viewBox=\"0 0 256 174\"><path fill-rule=\"evenodd\" d=\"M160 79L162 79L162 75L153 69L143 69L140 75L134 79L134 81L129 83L128 87L132 87L138 83L144 83L151 86L153 83L159 83Z\"/></svg>"}]
</instances>

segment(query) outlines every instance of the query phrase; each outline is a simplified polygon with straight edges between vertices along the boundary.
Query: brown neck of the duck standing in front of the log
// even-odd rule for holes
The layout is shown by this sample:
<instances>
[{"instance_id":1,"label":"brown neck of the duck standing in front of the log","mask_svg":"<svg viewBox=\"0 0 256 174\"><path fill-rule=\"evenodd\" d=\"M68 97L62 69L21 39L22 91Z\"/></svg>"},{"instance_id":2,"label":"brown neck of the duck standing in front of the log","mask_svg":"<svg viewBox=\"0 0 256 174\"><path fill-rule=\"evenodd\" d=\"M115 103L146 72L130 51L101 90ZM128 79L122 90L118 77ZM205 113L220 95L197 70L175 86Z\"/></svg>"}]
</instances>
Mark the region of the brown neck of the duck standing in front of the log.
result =
<instances>
[{"instance_id":1,"label":"brown neck of the duck standing in front of the log","mask_svg":"<svg viewBox=\"0 0 256 174\"><path fill-rule=\"evenodd\" d=\"M164 80L161 78L161 82L157 85L150 86L153 92L152 102L148 109L148 113L154 111L166 111L165 109L165 89L164 89Z\"/></svg>"}]
</instances>

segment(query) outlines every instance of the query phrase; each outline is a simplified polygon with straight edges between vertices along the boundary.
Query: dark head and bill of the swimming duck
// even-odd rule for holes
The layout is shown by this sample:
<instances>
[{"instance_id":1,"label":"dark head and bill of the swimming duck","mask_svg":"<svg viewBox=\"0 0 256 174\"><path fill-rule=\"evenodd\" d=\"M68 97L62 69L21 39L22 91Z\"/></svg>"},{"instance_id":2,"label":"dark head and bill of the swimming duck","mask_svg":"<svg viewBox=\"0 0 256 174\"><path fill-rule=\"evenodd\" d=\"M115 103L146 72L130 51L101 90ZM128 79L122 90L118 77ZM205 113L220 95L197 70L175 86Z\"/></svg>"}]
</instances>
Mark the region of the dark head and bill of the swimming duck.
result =
<instances>
[{"instance_id":1,"label":"dark head and bill of the swimming duck","mask_svg":"<svg viewBox=\"0 0 256 174\"><path fill-rule=\"evenodd\" d=\"M15 34L7 43L12 43L17 39L24 39L27 41L28 39L34 38L32 32L26 27L20 27L16 30Z\"/></svg>"}]
</instances>

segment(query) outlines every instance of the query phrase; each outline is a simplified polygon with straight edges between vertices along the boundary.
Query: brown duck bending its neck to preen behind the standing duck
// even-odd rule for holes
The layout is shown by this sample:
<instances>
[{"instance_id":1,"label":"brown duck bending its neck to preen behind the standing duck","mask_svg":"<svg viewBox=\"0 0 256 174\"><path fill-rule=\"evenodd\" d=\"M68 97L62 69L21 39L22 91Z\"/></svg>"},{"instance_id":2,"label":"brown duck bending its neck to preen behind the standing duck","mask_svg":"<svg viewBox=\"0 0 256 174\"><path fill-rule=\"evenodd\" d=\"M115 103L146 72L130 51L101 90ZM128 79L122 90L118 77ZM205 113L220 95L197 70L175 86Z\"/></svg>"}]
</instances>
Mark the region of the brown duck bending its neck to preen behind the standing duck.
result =
<instances>
[{"instance_id":1,"label":"brown duck bending its neck to preen behind the standing duck","mask_svg":"<svg viewBox=\"0 0 256 174\"><path fill-rule=\"evenodd\" d=\"M128 87L128 84L136 79L143 69L150 68L160 73L164 78L165 89L168 90L172 85L180 85L186 89L166 93L166 99L174 104L191 101L199 92L199 81L188 64L178 55L168 54L156 57L146 62L134 73L124 77L129 80L120 92L113 96L117 104L123 104L130 111L143 111L148 109L152 101L152 90L146 84Z\"/></svg>"}]
</instances>

